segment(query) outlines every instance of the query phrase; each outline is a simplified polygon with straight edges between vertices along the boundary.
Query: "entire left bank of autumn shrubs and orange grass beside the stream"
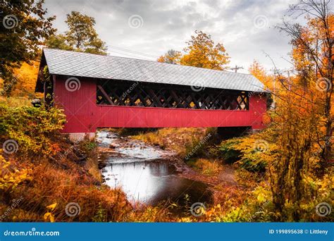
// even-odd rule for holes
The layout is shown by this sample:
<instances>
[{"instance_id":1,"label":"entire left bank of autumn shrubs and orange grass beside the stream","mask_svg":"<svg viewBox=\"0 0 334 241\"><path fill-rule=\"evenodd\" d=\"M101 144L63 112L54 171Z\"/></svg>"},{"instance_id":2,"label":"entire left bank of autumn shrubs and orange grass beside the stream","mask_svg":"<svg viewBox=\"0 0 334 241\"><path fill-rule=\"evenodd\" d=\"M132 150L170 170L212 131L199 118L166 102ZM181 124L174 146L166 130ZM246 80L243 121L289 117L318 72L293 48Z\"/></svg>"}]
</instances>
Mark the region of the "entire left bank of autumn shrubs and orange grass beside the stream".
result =
<instances>
[{"instance_id":1,"label":"entire left bank of autumn shrubs and orange grass beside the stream","mask_svg":"<svg viewBox=\"0 0 334 241\"><path fill-rule=\"evenodd\" d=\"M17 152L0 153L1 221L123 221L132 211L121 190L101 185L96 144L58 132L61 110L1 104L0 113L1 141L18 143ZM77 216L66 215L70 202Z\"/></svg>"}]
</instances>

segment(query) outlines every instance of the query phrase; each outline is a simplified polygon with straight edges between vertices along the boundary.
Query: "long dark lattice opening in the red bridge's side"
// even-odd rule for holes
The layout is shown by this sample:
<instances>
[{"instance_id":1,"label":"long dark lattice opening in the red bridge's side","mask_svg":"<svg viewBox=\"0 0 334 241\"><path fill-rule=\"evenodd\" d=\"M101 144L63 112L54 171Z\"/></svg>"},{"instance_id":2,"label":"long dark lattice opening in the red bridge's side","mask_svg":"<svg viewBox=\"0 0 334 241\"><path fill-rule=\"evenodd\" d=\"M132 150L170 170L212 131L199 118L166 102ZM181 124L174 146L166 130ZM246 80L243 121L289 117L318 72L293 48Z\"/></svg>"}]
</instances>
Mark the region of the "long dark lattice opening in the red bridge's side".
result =
<instances>
[{"instance_id":1,"label":"long dark lattice opening in the red bridge's side","mask_svg":"<svg viewBox=\"0 0 334 241\"><path fill-rule=\"evenodd\" d=\"M187 89L162 89L137 86L128 92L128 85L97 85L97 104L144 106L183 109L248 110L246 92L222 94L220 91L194 93ZM228 93L228 92L227 92Z\"/></svg>"}]
</instances>

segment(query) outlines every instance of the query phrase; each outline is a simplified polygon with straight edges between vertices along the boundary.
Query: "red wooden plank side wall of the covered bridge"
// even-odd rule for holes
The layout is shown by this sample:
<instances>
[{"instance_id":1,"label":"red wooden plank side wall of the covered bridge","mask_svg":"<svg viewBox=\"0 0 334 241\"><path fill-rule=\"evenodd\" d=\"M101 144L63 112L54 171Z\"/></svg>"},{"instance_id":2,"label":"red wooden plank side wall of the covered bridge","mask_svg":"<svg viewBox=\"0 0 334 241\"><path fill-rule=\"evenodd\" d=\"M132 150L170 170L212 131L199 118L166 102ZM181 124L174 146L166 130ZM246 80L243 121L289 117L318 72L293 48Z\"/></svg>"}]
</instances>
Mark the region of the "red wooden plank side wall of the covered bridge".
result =
<instances>
[{"instance_id":1,"label":"red wooden plank side wall of the covered bridge","mask_svg":"<svg viewBox=\"0 0 334 241\"><path fill-rule=\"evenodd\" d=\"M263 129L266 99L258 94L249 98L249 111L166 109L140 106L96 104L97 85L92 79L78 78L80 88L70 89L66 78L54 78L56 106L64 109L65 133L95 132L97 128L237 127ZM73 85L74 86L74 85Z\"/></svg>"}]
</instances>

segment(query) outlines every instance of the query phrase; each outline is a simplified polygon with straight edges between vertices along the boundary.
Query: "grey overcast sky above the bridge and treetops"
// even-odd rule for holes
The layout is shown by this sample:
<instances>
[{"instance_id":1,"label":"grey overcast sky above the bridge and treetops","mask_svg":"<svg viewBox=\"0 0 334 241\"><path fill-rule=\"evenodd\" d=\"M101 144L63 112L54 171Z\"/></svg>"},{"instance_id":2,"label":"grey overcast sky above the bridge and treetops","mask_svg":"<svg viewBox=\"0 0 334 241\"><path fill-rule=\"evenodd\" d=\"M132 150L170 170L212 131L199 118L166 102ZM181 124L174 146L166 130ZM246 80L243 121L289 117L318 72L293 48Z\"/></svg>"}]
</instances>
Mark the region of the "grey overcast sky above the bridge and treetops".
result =
<instances>
[{"instance_id":1,"label":"grey overcast sky above the bridge and treetops","mask_svg":"<svg viewBox=\"0 0 334 241\"><path fill-rule=\"evenodd\" d=\"M54 27L66 31L66 13L80 11L96 20L96 29L109 54L156 60L168 49L182 50L203 30L221 42L230 55L230 66L247 73L254 59L268 70L290 68L283 58L291 50L289 38L274 26L282 22L294 0L46 0ZM139 52L140 54L137 54ZM283 57L283 58L282 58Z\"/></svg>"}]
</instances>

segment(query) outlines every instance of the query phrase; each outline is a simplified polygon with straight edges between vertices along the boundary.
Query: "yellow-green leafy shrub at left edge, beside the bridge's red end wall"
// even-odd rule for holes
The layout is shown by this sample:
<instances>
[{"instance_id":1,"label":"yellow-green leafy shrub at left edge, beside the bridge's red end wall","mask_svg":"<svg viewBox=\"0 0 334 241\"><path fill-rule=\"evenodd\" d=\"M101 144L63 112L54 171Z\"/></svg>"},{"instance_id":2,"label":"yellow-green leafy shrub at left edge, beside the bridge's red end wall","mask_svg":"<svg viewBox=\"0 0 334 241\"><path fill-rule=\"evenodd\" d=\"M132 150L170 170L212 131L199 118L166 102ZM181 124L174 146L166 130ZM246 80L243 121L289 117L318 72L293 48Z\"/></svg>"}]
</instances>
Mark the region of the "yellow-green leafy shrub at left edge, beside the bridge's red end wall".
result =
<instances>
[{"instance_id":1,"label":"yellow-green leafy shrub at left edge, beside the bridge's red end wall","mask_svg":"<svg viewBox=\"0 0 334 241\"><path fill-rule=\"evenodd\" d=\"M0 138L2 142L14 140L18 153L27 156L48 155L57 151L51 139L63 128L65 115L59 109L0 105Z\"/></svg>"}]
</instances>

